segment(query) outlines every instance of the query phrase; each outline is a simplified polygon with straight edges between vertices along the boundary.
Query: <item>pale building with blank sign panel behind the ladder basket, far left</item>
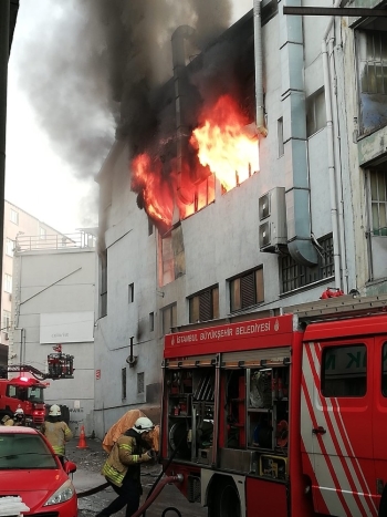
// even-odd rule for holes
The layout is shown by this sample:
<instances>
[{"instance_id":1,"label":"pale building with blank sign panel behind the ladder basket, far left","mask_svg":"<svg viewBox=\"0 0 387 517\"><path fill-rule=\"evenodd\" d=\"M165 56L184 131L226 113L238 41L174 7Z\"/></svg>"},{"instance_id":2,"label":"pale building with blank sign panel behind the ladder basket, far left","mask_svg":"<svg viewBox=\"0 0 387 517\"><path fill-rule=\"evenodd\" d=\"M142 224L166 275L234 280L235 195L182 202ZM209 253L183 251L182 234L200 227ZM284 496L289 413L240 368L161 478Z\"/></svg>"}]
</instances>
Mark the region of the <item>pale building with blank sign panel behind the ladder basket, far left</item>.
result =
<instances>
[{"instance_id":1,"label":"pale building with blank sign panel behind the ladder basket, far left","mask_svg":"<svg viewBox=\"0 0 387 517\"><path fill-rule=\"evenodd\" d=\"M95 238L82 232L55 242L53 236L48 236L43 247L17 239L9 364L48 373L48 355L57 345L73 355L73 379L48 379L45 402L69 407L74 433L81 425L92 433Z\"/></svg>"}]
</instances>

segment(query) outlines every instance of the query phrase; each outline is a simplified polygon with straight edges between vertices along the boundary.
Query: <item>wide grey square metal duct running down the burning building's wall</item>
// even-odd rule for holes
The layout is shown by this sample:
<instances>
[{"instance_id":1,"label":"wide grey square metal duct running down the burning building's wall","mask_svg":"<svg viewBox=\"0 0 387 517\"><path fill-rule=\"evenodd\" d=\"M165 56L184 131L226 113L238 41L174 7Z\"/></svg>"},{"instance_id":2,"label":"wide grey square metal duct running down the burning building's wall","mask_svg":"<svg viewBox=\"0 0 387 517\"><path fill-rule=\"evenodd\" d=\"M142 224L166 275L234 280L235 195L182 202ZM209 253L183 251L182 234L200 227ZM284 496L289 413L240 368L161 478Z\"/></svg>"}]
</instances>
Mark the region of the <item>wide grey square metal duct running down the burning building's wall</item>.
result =
<instances>
[{"instance_id":1,"label":"wide grey square metal duct running down the burning building's wall","mask_svg":"<svg viewBox=\"0 0 387 517\"><path fill-rule=\"evenodd\" d=\"M294 7L301 7L301 0L292 1ZM315 266L317 251L311 231L302 17L285 15L283 11L279 15L287 249L296 262Z\"/></svg>"}]
</instances>

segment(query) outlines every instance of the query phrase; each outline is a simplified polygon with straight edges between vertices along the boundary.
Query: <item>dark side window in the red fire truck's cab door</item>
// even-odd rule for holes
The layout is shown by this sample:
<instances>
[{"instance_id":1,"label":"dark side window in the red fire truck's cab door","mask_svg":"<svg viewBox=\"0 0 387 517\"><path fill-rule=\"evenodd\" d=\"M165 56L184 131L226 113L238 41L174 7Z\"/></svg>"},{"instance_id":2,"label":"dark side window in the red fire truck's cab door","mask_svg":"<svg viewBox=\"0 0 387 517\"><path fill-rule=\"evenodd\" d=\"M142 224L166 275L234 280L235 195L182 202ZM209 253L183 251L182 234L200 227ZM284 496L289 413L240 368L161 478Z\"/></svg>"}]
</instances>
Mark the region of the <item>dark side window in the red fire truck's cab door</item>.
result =
<instances>
[{"instance_id":1,"label":"dark side window in the red fire truck's cab door","mask_svg":"<svg viewBox=\"0 0 387 517\"><path fill-rule=\"evenodd\" d=\"M364 344L323 350L321 391L328 396L364 396L367 392L367 348Z\"/></svg>"}]
</instances>

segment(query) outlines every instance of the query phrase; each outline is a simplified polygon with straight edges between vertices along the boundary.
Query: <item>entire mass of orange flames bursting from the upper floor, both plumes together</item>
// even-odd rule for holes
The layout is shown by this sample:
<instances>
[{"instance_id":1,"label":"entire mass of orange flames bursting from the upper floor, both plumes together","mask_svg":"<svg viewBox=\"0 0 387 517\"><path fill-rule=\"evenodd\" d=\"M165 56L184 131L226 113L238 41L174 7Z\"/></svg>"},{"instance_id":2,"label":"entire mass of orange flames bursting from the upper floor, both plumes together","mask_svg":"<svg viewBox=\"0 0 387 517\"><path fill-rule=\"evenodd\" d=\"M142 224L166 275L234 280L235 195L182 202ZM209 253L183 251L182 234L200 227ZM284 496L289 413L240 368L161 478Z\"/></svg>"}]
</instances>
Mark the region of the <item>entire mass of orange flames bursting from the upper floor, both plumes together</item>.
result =
<instances>
[{"instance_id":1,"label":"entire mass of orange flames bursting from the upper floor, both plumes together","mask_svg":"<svg viewBox=\"0 0 387 517\"><path fill-rule=\"evenodd\" d=\"M195 159L185 159L181 170L176 158L161 163L149 153L132 161L132 189L139 193L139 206L164 228L171 226L175 208L184 219L213 200L215 176L230 190L259 170L257 133L249 134L249 121L231 96L219 97L199 120L189 137Z\"/></svg>"}]
</instances>

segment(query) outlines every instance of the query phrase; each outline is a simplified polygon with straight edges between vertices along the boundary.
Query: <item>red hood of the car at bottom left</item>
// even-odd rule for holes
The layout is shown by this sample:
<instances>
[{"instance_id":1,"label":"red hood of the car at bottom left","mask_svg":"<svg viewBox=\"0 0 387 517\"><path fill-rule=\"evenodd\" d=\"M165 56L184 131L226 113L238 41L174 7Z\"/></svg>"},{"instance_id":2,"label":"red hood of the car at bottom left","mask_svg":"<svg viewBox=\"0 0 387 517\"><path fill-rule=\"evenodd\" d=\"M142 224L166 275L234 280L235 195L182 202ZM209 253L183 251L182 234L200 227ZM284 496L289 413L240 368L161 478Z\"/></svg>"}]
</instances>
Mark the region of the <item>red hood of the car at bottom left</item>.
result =
<instances>
[{"instance_id":1,"label":"red hood of the car at bottom left","mask_svg":"<svg viewBox=\"0 0 387 517\"><path fill-rule=\"evenodd\" d=\"M46 499L67 479L67 475L60 469L0 471L0 497L20 496L33 511L44 505Z\"/></svg>"}]
</instances>

